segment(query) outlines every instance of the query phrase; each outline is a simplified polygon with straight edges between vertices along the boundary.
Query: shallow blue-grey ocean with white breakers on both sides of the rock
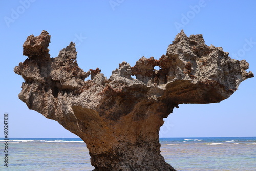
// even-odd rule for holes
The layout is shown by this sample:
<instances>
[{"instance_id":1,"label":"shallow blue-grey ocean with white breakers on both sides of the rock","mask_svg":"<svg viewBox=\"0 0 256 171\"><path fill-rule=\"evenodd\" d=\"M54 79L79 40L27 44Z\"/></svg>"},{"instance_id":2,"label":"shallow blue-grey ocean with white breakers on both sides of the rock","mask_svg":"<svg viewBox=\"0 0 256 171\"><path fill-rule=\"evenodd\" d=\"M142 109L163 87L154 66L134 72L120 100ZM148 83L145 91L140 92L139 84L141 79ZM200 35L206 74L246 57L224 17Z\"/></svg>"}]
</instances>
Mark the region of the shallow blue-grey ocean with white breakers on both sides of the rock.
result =
<instances>
[{"instance_id":1,"label":"shallow blue-grey ocean with white breakers on both sides of the rock","mask_svg":"<svg viewBox=\"0 0 256 171\"><path fill-rule=\"evenodd\" d=\"M0 139L0 170L93 170L79 138ZM256 137L160 138L161 154L177 171L256 170ZM8 167L4 157L8 154Z\"/></svg>"}]
</instances>

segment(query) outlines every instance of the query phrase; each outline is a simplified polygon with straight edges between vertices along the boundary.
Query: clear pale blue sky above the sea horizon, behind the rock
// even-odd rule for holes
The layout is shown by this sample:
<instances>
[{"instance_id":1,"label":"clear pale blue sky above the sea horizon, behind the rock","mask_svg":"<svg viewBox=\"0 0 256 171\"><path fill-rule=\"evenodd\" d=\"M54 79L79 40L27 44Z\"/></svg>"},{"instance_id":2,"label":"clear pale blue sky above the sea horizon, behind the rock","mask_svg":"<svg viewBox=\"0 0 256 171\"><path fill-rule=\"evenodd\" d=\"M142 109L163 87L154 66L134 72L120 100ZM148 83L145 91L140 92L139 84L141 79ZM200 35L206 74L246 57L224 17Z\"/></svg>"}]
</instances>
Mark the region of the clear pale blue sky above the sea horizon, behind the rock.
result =
<instances>
[{"instance_id":1,"label":"clear pale blue sky above the sea horizon, behind the rock","mask_svg":"<svg viewBox=\"0 0 256 171\"><path fill-rule=\"evenodd\" d=\"M13 72L23 62L27 36L50 33L51 57L71 41L84 71L99 67L109 77L122 61L159 58L184 29L207 45L250 63L256 74L256 1L0 1L0 137L9 113L10 137L77 137L56 121L29 110L17 97L24 82ZM241 83L216 104L183 104L165 119L161 137L256 136L256 78Z\"/></svg>"}]
</instances>

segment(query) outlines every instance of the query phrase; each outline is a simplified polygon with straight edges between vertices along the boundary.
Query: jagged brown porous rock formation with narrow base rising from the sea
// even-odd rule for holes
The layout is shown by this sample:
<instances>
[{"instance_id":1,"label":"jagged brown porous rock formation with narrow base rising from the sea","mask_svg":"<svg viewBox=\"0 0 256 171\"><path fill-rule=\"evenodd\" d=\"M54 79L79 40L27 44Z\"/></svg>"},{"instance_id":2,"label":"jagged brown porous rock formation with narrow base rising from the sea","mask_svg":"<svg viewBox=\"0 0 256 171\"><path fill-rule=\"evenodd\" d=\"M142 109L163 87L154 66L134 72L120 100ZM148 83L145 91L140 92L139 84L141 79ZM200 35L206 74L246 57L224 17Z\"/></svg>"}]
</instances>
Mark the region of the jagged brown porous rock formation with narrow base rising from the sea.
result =
<instances>
[{"instance_id":1,"label":"jagged brown porous rock formation with narrow base rising from the sea","mask_svg":"<svg viewBox=\"0 0 256 171\"><path fill-rule=\"evenodd\" d=\"M47 31L25 41L28 58L14 69L25 80L18 97L86 142L95 170L175 170L160 154L163 118L178 104L220 102L253 77L245 60L183 30L166 55L122 62L109 79L78 67L73 42L50 58L49 42Z\"/></svg>"}]
</instances>

